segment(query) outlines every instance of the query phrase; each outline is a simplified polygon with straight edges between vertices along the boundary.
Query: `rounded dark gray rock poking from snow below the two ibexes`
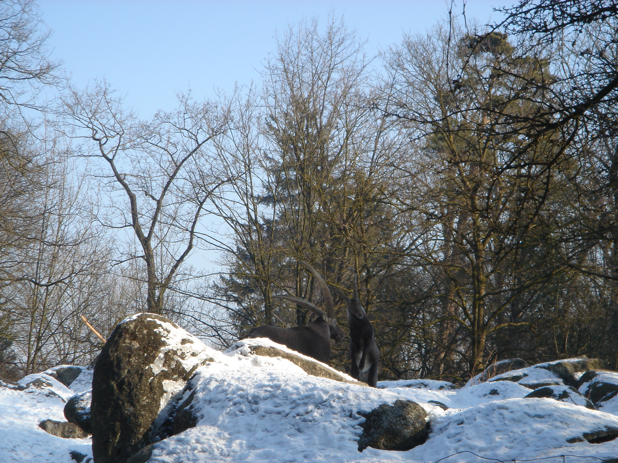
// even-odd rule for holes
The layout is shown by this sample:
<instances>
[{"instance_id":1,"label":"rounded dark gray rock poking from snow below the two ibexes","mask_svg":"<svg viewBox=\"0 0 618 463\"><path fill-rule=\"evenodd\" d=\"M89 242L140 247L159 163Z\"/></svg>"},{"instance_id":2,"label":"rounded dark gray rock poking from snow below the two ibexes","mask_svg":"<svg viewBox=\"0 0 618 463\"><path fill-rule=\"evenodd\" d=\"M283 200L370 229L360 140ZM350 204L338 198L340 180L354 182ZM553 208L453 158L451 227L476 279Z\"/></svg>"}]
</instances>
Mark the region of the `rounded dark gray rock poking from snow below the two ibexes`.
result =
<instances>
[{"instance_id":1,"label":"rounded dark gray rock poking from snow below the two ibexes","mask_svg":"<svg viewBox=\"0 0 618 463\"><path fill-rule=\"evenodd\" d=\"M358 439L358 451L367 447L380 450L405 451L422 444L427 438L427 412L412 401L398 400L383 404L369 413L360 423L363 434Z\"/></svg>"}]
</instances>

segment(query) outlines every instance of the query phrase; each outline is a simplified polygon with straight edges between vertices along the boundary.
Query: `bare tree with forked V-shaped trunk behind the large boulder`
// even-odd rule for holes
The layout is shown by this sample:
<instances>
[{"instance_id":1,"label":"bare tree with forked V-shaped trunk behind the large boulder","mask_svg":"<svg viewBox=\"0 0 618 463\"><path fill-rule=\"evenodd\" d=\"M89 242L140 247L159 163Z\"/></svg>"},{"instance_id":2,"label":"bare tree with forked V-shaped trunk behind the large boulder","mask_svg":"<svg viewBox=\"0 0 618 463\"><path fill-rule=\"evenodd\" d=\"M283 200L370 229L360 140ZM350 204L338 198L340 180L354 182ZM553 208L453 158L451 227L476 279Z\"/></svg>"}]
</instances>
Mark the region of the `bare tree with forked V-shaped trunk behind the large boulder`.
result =
<instances>
[{"instance_id":1,"label":"bare tree with forked V-shaped trunk behind the large boulder","mask_svg":"<svg viewBox=\"0 0 618 463\"><path fill-rule=\"evenodd\" d=\"M81 145L80 156L101 161L109 203L98 219L117 233L131 231L137 252L127 246L124 261L142 260L146 310L161 313L166 291L195 246L205 204L222 183L210 175L196 189L190 177L209 171L208 144L225 130L225 112L181 96L176 112L140 122L105 83L72 90L63 103L65 133L90 142Z\"/></svg>"}]
</instances>

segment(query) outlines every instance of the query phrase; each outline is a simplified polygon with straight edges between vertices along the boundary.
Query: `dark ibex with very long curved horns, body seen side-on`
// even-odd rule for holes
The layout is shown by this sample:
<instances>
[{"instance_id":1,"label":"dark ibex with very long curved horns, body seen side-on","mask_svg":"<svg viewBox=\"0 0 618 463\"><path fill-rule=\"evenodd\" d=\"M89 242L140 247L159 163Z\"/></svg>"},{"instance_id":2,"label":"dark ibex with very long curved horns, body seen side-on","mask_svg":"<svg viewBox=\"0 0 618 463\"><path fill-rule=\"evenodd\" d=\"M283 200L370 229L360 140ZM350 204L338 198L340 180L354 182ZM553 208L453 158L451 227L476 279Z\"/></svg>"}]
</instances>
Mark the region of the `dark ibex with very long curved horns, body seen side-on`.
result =
<instances>
[{"instance_id":1,"label":"dark ibex with very long curved horns, body seen side-on","mask_svg":"<svg viewBox=\"0 0 618 463\"><path fill-rule=\"evenodd\" d=\"M331 339L338 343L343 339L344 333L341 331L341 328L337 327L335 304L332 301L326 282L311 265L306 262L301 263L307 267L311 275L316 279L316 282L318 282L322 291L326 313L321 311L319 307L311 304L311 302L305 301L305 299L287 295L274 296L275 298L286 299L287 301L295 302L299 306L306 307L310 311L315 312L318 317L304 327L281 328L263 325L253 328L248 337L268 338L307 357L329 365L331 362Z\"/></svg>"}]
</instances>

